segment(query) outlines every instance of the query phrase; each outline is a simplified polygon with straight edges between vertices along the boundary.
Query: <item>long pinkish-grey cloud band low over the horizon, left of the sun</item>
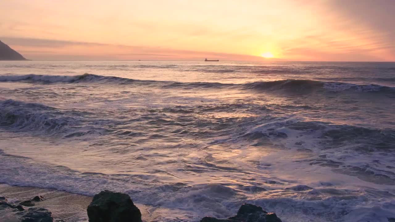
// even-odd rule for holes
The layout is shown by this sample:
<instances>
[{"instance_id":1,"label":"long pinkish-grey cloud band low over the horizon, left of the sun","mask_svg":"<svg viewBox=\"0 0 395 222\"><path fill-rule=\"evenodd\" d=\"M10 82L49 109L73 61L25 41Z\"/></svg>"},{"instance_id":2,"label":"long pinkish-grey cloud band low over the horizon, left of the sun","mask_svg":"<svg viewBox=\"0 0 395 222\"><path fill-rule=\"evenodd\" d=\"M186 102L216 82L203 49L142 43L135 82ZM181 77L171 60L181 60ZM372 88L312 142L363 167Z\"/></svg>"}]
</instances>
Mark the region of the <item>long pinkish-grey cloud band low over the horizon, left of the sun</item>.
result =
<instances>
[{"instance_id":1,"label":"long pinkish-grey cloud band low over the horizon, left of the sun","mask_svg":"<svg viewBox=\"0 0 395 222\"><path fill-rule=\"evenodd\" d=\"M206 57L221 60L264 60L260 56L218 53L209 51L179 50L162 47L115 45L81 41L45 40L33 38L0 37L30 59L69 60L72 56L84 60L135 60L175 59L191 60ZM47 50L43 50L47 49ZM51 50L50 50L51 49ZM42 54L42 55L40 55Z\"/></svg>"}]
</instances>

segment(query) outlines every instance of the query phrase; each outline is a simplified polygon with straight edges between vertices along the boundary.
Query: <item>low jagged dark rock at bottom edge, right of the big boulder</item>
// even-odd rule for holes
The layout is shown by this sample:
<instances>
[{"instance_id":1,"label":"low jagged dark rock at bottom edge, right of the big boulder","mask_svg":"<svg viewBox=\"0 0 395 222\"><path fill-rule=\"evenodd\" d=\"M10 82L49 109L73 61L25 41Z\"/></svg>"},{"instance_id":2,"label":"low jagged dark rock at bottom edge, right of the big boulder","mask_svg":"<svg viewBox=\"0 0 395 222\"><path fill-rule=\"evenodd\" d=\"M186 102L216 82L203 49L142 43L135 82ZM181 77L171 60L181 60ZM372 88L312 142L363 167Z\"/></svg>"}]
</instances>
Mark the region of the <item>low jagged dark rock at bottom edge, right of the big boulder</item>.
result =
<instances>
[{"instance_id":1,"label":"low jagged dark rock at bottom edge, right of the big boulder","mask_svg":"<svg viewBox=\"0 0 395 222\"><path fill-rule=\"evenodd\" d=\"M280 218L275 213L267 213L262 209L252 204L245 203L241 205L239 211L235 216L228 219L217 219L206 216L200 222L281 222Z\"/></svg>"}]
</instances>

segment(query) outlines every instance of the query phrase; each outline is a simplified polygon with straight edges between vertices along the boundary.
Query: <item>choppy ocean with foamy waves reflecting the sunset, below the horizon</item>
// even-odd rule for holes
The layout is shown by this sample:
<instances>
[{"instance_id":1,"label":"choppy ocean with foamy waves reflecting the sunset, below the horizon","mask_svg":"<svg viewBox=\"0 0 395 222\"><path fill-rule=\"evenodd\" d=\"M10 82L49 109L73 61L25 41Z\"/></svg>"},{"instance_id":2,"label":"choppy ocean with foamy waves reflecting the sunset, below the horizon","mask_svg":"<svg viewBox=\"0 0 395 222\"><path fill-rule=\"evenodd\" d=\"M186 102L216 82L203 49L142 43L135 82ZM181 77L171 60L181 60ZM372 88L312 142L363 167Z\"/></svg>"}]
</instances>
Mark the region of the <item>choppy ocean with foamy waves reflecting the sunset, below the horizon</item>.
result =
<instances>
[{"instance_id":1,"label":"choppy ocean with foamy waves reflecting the sunset, below the horizon","mask_svg":"<svg viewBox=\"0 0 395 222\"><path fill-rule=\"evenodd\" d=\"M395 217L395 63L2 61L0 92L1 183L160 222Z\"/></svg>"}]
</instances>

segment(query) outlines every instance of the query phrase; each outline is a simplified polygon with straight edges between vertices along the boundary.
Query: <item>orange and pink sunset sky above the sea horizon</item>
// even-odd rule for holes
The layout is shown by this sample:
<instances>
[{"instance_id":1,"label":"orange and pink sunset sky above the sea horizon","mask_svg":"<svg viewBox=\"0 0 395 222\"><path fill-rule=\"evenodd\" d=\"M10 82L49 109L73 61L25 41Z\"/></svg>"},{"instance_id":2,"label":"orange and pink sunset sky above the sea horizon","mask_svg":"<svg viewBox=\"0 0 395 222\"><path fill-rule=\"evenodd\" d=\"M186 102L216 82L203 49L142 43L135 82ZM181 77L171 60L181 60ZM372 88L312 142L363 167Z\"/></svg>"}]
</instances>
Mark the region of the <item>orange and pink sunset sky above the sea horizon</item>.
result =
<instances>
[{"instance_id":1,"label":"orange and pink sunset sky above the sea horizon","mask_svg":"<svg viewBox=\"0 0 395 222\"><path fill-rule=\"evenodd\" d=\"M0 0L0 40L32 60L395 61L394 12L395 0Z\"/></svg>"}]
</instances>

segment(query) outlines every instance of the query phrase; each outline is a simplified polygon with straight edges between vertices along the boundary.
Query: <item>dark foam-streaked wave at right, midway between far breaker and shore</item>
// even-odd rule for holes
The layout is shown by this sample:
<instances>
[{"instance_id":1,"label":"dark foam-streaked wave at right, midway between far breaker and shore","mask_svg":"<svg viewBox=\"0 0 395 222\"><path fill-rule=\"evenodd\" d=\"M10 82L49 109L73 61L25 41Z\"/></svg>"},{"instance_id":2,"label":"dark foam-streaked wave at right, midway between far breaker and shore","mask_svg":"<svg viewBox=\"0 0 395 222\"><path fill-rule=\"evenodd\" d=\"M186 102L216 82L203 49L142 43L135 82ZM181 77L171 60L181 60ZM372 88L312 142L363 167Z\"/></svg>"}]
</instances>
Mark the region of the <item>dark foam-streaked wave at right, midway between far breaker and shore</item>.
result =
<instances>
[{"instance_id":1,"label":"dark foam-streaked wave at right, midway between far breaker and shore","mask_svg":"<svg viewBox=\"0 0 395 222\"><path fill-rule=\"evenodd\" d=\"M259 124L259 122L263 123ZM258 135L259 138L274 135L275 137L291 138L296 135L291 131L297 131L299 134L305 134L305 136L314 134L316 138L321 139L321 142L327 140L331 145L359 143L364 148L370 147L375 150L393 149L395 145L395 130L388 128L370 128L352 124L335 124L333 122L284 117L271 117L271 119L265 119L264 121L258 120L257 124L251 126L250 130L239 137L256 139ZM303 138L292 139L303 140ZM319 147L320 149L326 149L324 143L321 143ZM355 146L354 148L357 149L358 147Z\"/></svg>"}]
</instances>

